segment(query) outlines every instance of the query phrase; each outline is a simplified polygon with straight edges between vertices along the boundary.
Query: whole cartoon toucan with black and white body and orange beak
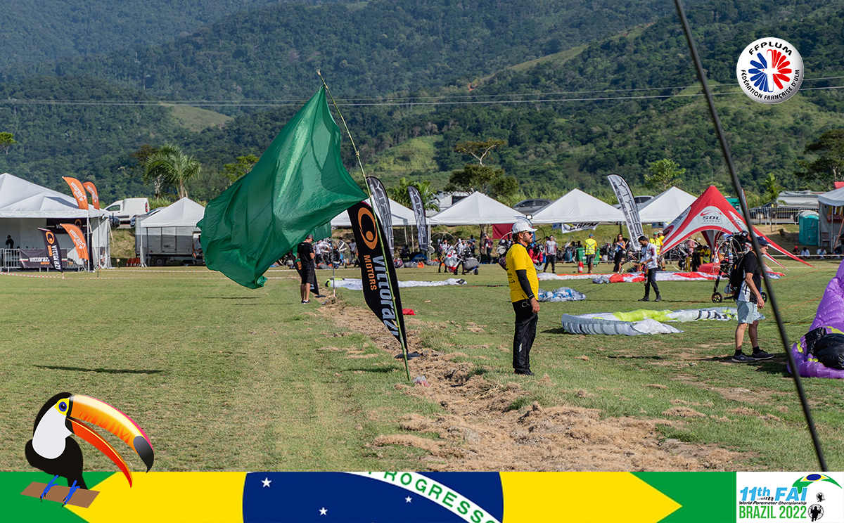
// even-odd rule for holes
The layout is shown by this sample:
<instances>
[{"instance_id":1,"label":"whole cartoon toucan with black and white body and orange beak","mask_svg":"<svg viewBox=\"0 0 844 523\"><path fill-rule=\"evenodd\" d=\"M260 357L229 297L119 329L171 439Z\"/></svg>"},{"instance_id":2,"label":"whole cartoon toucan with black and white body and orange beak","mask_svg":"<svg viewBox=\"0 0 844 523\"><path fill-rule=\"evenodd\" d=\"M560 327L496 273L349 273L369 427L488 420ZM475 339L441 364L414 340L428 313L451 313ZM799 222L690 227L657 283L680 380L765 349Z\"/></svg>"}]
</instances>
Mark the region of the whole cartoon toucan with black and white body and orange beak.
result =
<instances>
[{"instance_id":1,"label":"whole cartoon toucan with black and white body and orange beak","mask_svg":"<svg viewBox=\"0 0 844 523\"><path fill-rule=\"evenodd\" d=\"M100 402L90 396L61 392L52 396L41 407L38 416L35 417L32 439L26 442L26 461L29 461L31 466L54 476L41 493L41 500L56 484L59 477L67 479L68 487L70 487L64 504L68 503L73 493L79 488L88 488L82 477L82 449L79 448L76 440L71 438L73 434L94 445L111 461L114 461L126 476L129 486L132 486L132 472L129 471L126 461L100 434L81 422L95 424L116 435L138 453L147 466L147 472L152 468L153 446L147 434L138 427L138 423L108 403Z\"/></svg>"}]
</instances>

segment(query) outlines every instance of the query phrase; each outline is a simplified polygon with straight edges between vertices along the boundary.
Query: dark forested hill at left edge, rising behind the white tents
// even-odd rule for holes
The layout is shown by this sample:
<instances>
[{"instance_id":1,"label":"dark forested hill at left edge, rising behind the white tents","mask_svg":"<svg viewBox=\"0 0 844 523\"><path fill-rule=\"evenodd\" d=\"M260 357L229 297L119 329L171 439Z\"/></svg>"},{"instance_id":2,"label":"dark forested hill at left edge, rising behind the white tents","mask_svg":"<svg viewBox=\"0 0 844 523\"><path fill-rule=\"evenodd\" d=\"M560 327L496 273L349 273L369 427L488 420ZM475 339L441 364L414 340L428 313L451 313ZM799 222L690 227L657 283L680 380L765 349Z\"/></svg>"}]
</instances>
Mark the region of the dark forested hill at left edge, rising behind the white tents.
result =
<instances>
[{"instance_id":1,"label":"dark forested hill at left edge, rising behind the white tents","mask_svg":"<svg viewBox=\"0 0 844 523\"><path fill-rule=\"evenodd\" d=\"M96 78L42 77L0 84L0 100L26 99L55 103L0 104L0 129L13 132L18 142L0 155L0 172L57 191L67 189L62 176L95 181L106 203L148 192L138 176L119 169L128 164L128 154L143 143L182 137L170 108ZM73 104L77 100L91 103ZM103 105L115 100L152 105Z\"/></svg>"}]
</instances>

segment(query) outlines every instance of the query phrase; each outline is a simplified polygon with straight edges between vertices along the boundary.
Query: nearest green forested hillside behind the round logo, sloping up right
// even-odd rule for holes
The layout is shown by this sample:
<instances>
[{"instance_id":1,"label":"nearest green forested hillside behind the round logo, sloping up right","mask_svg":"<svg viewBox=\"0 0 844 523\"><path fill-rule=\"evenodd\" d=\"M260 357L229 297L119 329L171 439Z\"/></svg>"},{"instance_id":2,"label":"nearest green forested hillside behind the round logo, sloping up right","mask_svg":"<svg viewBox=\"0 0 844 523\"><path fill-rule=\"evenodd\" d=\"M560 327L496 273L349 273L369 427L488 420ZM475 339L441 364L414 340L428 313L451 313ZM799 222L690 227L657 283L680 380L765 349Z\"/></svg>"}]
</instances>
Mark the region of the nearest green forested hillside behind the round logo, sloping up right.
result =
<instances>
[{"instance_id":1,"label":"nearest green forested hillside behind the round logo, sloping up right","mask_svg":"<svg viewBox=\"0 0 844 523\"><path fill-rule=\"evenodd\" d=\"M796 160L803 157L806 143L844 126L841 91L812 90L840 85L840 78L811 80L844 75L844 2L813 0L782 6L786 7L716 0L689 10L708 77L717 84L716 103L734 162L750 191L761 191L768 173L788 189L823 188L794 177ZM736 85L738 54L750 41L766 35L786 39L803 53L807 90L787 103L758 104ZM343 108L344 116L361 158L388 185L402 175L419 179L433 175L439 180L436 185L442 186L447 175L437 176L436 171L447 173L469 160L454 152L458 141L498 138L506 146L491 160L515 175L528 194L575 187L609 191L604 176L612 172L641 186L647 164L663 158L674 159L687 170L683 186L689 191L700 191L712 181L729 186L706 101L700 95L686 96L701 94L701 89L685 88L697 78L676 16L592 44L573 57L554 58L496 73L463 98L450 93L438 99L408 99L403 105L350 106ZM431 100L441 105L410 103ZM482 100L561 101L473 103ZM454 102L457 105L449 105ZM465 102L472 103L460 105ZM238 118L225 129L194 137L192 147L214 163L230 150L227 144L238 143L260 154L260 129L267 130L267 143L277 129L271 122L286 121L289 113L285 108ZM397 149L400 152L393 153ZM344 152L346 164L353 166L348 143ZM380 161L385 156L391 157L387 166ZM431 167L419 172L419 164Z\"/></svg>"}]
</instances>

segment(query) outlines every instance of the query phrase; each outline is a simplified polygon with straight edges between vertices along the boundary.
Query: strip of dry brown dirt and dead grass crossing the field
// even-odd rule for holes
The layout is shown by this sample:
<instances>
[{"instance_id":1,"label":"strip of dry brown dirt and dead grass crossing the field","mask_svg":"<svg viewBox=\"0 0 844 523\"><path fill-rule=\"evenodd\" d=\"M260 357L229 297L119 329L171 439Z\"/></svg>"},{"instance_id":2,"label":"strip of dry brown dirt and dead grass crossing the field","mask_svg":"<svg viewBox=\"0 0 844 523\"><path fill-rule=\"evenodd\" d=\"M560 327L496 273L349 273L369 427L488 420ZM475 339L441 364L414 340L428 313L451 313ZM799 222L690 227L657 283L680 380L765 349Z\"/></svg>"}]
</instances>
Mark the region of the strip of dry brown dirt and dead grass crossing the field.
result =
<instances>
[{"instance_id":1,"label":"strip of dry brown dirt and dead grass crossing the field","mask_svg":"<svg viewBox=\"0 0 844 523\"><path fill-rule=\"evenodd\" d=\"M330 314L337 326L365 334L377 347L397 352L394 338L368 310L348 307L342 302L320 310ZM372 445L404 445L426 450L428 455L420 466L427 470L722 471L740 468L734 463L741 456L737 452L715 445L663 440L657 426L679 427L686 423L683 420L602 418L598 409L542 407L529 400L527 391L515 378L492 380L486 375L488 368L453 361L458 356L466 357L463 353L442 353L422 347L418 337L411 337L410 350L422 354L421 358L409 361L411 376L425 375L430 386L399 383L395 390L436 403L443 413L404 415L395 421L408 434L382 434L376 436ZM547 375L536 380L545 386L553 385ZM705 417L689 407L673 407L663 414Z\"/></svg>"}]
</instances>

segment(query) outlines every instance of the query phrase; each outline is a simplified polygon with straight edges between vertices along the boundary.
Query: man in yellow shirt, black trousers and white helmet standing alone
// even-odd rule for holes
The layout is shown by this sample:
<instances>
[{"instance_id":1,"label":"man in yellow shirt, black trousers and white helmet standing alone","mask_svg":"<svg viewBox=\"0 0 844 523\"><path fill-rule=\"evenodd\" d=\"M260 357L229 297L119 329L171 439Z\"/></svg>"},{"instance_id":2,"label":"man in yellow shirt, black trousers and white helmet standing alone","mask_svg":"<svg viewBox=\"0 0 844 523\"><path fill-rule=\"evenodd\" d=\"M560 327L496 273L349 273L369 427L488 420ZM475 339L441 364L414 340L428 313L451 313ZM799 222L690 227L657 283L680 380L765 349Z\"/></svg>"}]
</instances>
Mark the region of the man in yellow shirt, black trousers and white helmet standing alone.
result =
<instances>
[{"instance_id":1,"label":"man in yellow shirt, black trousers and white helmet standing alone","mask_svg":"<svg viewBox=\"0 0 844 523\"><path fill-rule=\"evenodd\" d=\"M516 374L533 376L530 369L530 349L536 337L539 319L539 280L533 260L527 256L527 244L533 241L533 229L527 220L513 224L513 246L507 251L507 281L510 301L516 311L516 333L513 335L513 370Z\"/></svg>"}]
</instances>

